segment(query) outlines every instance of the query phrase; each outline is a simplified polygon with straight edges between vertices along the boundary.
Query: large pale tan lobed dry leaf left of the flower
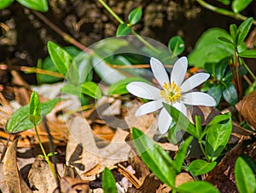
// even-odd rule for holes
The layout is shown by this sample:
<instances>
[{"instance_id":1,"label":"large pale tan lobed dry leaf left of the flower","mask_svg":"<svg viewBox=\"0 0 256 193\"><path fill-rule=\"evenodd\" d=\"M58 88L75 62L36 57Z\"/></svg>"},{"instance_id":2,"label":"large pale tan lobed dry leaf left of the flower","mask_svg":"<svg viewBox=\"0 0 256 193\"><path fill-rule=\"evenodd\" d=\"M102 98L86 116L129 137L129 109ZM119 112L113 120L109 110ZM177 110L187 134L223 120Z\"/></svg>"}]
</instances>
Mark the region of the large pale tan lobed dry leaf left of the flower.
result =
<instances>
[{"instance_id":1,"label":"large pale tan lobed dry leaf left of the flower","mask_svg":"<svg viewBox=\"0 0 256 193\"><path fill-rule=\"evenodd\" d=\"M125 137L128 132L117 129L111 143L102 149L98 149L90 125L84 117L74 117L69 122L68 128L70 135L67 142L67 165L71 164L71 160L73 166L79 165L80 169L77 168L80 175L96 167L96 165L101 165L98 172L102 172L104 167L112 167L118 162L127 161L130 147L125 143ZM81 150L79 156L74 159L73 155L78 145ZM83 167L82 170L81 167Z\"/></svg>"}]
</instances>

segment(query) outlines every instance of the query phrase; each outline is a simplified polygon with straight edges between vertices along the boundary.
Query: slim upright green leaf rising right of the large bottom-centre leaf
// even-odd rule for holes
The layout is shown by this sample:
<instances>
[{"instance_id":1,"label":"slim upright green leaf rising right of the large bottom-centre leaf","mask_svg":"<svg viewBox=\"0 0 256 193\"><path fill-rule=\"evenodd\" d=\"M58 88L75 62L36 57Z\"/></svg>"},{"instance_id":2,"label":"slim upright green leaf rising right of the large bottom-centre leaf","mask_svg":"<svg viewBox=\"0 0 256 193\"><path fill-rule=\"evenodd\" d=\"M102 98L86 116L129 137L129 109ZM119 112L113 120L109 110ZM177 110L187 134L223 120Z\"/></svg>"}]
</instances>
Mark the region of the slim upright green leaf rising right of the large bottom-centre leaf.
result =
<instances>
[{"instance_id":1,"label":"slim upright green leaf rising right of the large bottom-centre leaf","mask_svg":"<svg viewBox=\"0 0 256 193\"><path fill-rule=\"evenodd\" d=\"M177 173L181 172L181 169L183 167L183 162L184 162L185 157L187 155L189 145L190 145L192 139L193 139L193 137L189 136L189 138L184 141L183 145L177 151L177 155L175 156L175 161L174 161L174 164L173 164Z\"/></svg>"}]
</instances>

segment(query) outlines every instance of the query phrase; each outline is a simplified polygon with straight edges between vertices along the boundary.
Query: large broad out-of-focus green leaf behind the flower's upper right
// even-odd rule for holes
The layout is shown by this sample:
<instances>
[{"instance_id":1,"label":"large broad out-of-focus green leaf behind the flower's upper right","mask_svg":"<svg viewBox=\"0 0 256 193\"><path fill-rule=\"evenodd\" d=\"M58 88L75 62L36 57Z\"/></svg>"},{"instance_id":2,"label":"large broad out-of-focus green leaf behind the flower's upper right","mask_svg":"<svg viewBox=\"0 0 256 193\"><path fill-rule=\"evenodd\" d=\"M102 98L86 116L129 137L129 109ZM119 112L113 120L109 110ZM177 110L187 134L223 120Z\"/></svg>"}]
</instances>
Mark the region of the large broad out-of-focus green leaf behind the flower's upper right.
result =
<instances>
[{"instance_id":1,"label":"large broad out-of-focus green leaf behind the flower's upper right","mask_svg":"<svg viewBox=\"0 0 256 193\"><path fill-rule=\"evenodd\" d=\"M188 56L189 64L204 67L207 63L217 63L231 56L234 53L233 45L220 41L218 37L225 37L232 41L230 34L222 29L211 28L205 31Z\"/></svg>"}]
</instances>

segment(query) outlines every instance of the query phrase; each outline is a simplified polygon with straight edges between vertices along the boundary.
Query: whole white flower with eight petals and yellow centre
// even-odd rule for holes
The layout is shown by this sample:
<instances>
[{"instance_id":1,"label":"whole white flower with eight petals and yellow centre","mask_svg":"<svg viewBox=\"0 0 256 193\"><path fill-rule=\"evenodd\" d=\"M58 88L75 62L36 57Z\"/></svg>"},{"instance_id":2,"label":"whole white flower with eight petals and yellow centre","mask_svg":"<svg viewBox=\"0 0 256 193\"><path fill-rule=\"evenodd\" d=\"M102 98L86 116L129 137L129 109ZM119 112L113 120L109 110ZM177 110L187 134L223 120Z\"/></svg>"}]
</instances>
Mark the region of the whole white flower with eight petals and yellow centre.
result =
<instances>
[{"instance_id":1,"label":"whole white flower with eight petals and yellow centre","mask_svg":"<svg viewBox=\"0 0 256 193\"><path fill-rule=\"evenodd\" d=\"M175 62L172 68L171 78L169 79L164 65L159 60L151 58L151 69L154 77L159 82L161 89L155 88L145 82L131 82L126 88L137 97L143 99L152 99L144 105L141 105L136 116L143 116L163 107L163 102L175 107L187 116L185 105L216 105L215 100L209 94L201 92L189 92L191 89L205 82L210 76L207 73L197 73L183 82L188 68L188 60L182 57ZM166 133L172 123L172 116L162 108L158 118L158 128L160 133Z\"/></svg>"}]
</instances>

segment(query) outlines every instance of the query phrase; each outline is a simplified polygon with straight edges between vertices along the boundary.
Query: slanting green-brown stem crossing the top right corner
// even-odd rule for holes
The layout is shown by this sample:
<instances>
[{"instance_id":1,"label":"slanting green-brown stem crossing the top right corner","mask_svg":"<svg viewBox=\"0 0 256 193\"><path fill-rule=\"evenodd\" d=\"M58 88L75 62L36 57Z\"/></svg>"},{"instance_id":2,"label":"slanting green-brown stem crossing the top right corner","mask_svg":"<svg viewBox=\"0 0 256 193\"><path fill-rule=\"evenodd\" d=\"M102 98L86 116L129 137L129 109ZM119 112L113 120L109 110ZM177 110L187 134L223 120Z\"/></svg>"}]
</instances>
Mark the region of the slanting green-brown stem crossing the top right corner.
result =
<instances>
[{"instance_id":1,"label":"slanting green-brown stem crossing the top right corner","mask_svg":"<svg viewBox=\"0 0 256 193\"><path fill-rule=\"evenodd\" d=\"M236 13L234 13L234 12L228 10L228 9L220 9L218 7L212 6L209 3L206 3L203 0L196 0L196 2L201 4L201 6L206 8L206 9L209 9L209 10L215 12L215 13L218 13L218 14L224 14L226 16L235 18L236 20L247 20L248 19L246 16L244 16L242 14L236 14ZM256 20L253 20L253 25L256 26Z\"/></svg>"}]
</instances>

